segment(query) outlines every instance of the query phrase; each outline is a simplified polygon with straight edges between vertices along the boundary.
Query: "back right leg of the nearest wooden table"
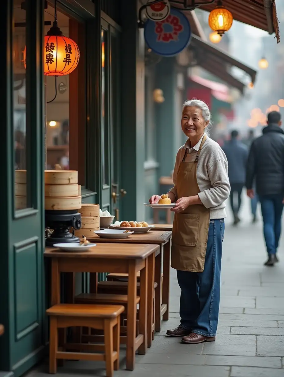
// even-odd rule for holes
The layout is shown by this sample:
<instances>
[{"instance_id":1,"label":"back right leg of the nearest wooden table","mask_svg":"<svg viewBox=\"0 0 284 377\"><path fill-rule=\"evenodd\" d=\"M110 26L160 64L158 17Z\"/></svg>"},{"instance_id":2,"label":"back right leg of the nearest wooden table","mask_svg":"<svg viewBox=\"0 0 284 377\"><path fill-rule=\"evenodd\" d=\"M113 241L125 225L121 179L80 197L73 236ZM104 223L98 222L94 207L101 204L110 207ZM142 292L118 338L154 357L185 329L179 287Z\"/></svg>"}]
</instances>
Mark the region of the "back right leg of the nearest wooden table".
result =
<instances>
[{"instance_id":1,"label":"back right leg of the nearest wooden table","mask_svg":"<svg viewBox=\"0 0 284 377\"><path fill-rule=\"evenodd\" d=\"M140 302L139 302L139 334L143 335L143 343L138 348L140 355L147 351L147 293L148 293L148 259L145 268L140 271Z\"/></svg>"}]
</instances>

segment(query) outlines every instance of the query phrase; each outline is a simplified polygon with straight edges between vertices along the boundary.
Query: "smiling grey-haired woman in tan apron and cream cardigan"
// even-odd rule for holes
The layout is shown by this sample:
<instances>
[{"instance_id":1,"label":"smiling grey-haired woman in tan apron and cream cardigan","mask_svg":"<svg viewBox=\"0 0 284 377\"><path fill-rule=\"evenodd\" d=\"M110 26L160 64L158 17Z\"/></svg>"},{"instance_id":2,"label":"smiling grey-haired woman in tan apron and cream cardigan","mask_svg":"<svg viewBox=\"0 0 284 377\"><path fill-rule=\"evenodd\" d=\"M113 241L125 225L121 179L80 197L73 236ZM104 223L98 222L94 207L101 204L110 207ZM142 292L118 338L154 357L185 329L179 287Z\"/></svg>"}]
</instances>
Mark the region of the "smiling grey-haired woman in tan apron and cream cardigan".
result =
<instances>
[{"instance_id":1,"label":"smiling grey-haired woman in tan apron and cream cardigan","mask_svg":"<svg viewBox=\"0 0 284 377\"><path fill-rule=\"evenodd\" d=\"M181 128L188 137L180 147L168 192L176 206L172 232L171 266L181 288L180 325L167 335L183 343L213 342L219 304L225 200L230 194L226 156L210 139L206 127L210 111L199 100L183 105ZM157 203L159 195L149 202Z\"/></svg>"}]
</instances>

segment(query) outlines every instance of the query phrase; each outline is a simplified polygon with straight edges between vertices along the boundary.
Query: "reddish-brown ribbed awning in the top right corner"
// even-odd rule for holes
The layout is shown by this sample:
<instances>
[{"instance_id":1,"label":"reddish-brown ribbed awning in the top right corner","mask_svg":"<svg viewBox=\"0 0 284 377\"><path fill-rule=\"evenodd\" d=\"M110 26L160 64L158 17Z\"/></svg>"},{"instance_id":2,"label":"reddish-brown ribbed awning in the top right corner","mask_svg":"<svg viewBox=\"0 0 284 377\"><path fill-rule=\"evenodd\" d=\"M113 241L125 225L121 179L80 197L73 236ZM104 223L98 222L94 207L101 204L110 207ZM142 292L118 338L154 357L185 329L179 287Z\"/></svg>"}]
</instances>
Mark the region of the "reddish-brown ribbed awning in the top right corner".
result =
<instances>
[{"instance_id":1,"label":"reddish-brown ribbed awning in the top right corner","mask_svg":"<svg viewBox=\"0 0 284 377\"><path fill-rule=\"evenodd\" d=\"M209 0L198 0L198 8L211 12L216 7L216 2L206 4ZM171 0L174 7L187 10L192 6L192 0ZM204 5L202 5L204 3ZM228 9L234 20L255 26L255 28L275 32L277 43L280 42L279 22L276 13L275 0L223 0L223 6Z\"/></svg>"}]
</instances>

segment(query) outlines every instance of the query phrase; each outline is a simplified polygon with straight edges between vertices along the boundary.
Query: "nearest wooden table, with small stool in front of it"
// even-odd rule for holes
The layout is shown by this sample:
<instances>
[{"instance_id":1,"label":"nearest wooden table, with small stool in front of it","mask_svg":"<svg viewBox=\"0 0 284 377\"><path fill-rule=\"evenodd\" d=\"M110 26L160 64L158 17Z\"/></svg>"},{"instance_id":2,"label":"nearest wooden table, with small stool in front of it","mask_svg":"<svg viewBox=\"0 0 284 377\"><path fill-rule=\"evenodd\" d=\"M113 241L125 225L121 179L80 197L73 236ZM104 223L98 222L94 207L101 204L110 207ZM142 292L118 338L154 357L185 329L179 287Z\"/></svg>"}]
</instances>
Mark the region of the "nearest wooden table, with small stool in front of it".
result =
<instances>
[{"instance_id":1,"label":"nearest wooden table, with small stool in front of it","mask_svg":"<svg viewBox=\"0 0 284 377\"><path fill-rule=\"evenodd\" d=\"M45 257L51 258L51 305L60 303L61 272L128 273L126 369L133 370L135 351L145 354L147 349L147 291L149 281L148 258L159 252L158 245L101 244L82 253L62 252L46 248ZM160 254L160 253L159 253ZM136 336L137 273L140 271L139 334ZM153 283L154 284L154 283Z\"/></svg>"}]
</instances>

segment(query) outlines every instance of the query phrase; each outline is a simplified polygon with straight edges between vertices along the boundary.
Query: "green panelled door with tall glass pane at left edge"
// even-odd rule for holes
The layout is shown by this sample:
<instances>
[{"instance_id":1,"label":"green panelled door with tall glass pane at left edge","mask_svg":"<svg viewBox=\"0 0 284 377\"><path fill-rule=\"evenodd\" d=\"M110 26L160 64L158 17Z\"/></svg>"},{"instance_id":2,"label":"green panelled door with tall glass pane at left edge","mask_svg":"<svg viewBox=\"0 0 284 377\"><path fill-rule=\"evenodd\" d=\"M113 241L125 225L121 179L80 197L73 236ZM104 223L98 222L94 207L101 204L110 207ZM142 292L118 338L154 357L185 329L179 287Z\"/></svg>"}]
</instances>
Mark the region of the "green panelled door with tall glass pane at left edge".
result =
<instances>
[{"instance_id":1,"label":"green panelled door with tall glass pane at left edge","mask_svg":"<svg viewBox=\"0 0 284 377\"><path fill-rule=\"evenodd\" d=\"M6 58L1 61L1 87L6 93L0 103L4 174L0 195L6 218L0 263L0 322L5 325L0 371L13 371L15 376L40 360L46 344L43 4L26 0L22 9L21 2L5 0L2 9ZM26 173L19 174L19 169Z\"/></svg>"}]
</instances>

